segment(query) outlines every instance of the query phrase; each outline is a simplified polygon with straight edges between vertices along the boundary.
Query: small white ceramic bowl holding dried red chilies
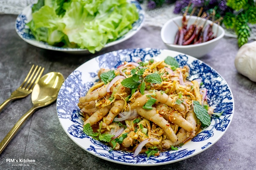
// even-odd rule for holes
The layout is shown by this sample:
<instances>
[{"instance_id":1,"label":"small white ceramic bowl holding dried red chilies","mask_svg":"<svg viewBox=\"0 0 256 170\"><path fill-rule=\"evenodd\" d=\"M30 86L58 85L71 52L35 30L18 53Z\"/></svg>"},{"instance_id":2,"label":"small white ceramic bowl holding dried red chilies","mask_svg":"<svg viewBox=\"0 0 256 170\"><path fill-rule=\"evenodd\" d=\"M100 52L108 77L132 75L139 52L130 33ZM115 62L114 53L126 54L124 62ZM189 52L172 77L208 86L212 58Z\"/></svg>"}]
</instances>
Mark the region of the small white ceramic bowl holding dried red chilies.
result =
<instances>
[{"instance_id":1,"label":"small white ceramic bowl holding dried red chilies","mask_svg":"<svg viewBox=\"0 0 256 170\"><path fill-rule=\"evenodd\" d=\"M187 19L188 17L189 16L186 16ZM198 17L196 16L190 17L188 21L188 27L195 22L196 18ZM194 44L194 45L175 45L173 44L173 42L175 39L175 35L178 31L178 27L174 23L174 21L181 26L181 19L182 19L182 16L175 17L167 21L161 29L161 39L165 43L166 47L170 50L179 51L181 53L185 53L196 58L201 58L205 54L207 54L210 50L212 50L220 42L221 38L225 34L224 29L218 24L214 23L212 26L212 30L215 34L218 28L217 38L208 42L203 42L203 43ZM201 19L201 20L205 21L205 19ZM202 23L204 22L201 22L201 24ZM207 23L205 25L208 25L210 23L212 23L212 21L207 20Z\"/></svg>"}]
</instances>

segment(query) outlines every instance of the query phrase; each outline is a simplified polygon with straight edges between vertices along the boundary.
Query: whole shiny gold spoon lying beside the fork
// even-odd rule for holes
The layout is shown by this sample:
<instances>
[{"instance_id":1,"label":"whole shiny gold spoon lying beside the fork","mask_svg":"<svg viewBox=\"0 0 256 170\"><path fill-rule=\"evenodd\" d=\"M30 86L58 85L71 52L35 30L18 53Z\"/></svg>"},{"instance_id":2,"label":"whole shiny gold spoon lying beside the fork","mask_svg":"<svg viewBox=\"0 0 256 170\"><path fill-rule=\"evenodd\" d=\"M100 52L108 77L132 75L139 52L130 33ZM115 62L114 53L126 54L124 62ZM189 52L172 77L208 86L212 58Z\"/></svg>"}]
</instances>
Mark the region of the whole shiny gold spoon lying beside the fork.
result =
<instances>
[{"instance_id":1,"label":"whole shiny gold spoon lying beside the fork","mask_svg":"<svg viewBox=\"0 0 256 170\"><path fill-rule=\"evenodd\" d=\"M38 83L35 84L31 94L33 107L18 120L18 122L12 127L10 132L2 140L0 143L0 154L9 144L22 124L33 114L35 110L41 107L45 107L57 99L59 89L63 82L64 77L61 73L58 72L51 72L40 78Z\"/></svg>"}]
</instances>

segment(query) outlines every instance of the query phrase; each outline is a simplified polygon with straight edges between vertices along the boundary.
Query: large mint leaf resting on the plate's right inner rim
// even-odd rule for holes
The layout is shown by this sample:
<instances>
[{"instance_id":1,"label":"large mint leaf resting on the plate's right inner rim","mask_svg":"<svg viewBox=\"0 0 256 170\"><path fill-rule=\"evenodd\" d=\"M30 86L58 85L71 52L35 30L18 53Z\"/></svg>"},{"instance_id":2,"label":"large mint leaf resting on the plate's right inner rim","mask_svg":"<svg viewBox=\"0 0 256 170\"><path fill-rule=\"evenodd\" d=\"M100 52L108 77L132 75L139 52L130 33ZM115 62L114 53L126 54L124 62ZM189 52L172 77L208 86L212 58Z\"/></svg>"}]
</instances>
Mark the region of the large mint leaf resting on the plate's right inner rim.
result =
<instances>
[{"instance_id":1,"label":"large mint leaf resting on the plate's right inner rim","mask_svg":"<svg viewBox=\"0 0 256 170\"><path fill-rule=\"evenodd\" d=\"M207 110L204 109L198 101L193 101L193 104L194 104L194 112L196 113L197 118L202 122L203 125L210 126L211 118Z\"/></svg>"}]
</instances>

